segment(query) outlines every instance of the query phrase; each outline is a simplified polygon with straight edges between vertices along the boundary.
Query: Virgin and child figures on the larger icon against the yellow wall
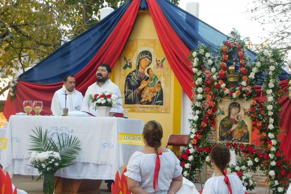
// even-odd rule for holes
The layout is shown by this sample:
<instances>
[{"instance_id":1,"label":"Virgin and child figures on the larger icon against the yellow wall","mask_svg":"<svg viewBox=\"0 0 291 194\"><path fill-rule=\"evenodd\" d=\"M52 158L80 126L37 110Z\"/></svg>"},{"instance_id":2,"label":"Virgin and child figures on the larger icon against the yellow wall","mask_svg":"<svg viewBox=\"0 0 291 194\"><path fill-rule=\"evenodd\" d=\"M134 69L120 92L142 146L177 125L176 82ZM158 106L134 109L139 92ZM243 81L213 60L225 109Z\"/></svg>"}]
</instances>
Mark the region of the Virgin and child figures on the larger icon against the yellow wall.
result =
<instances>
[{"instance_id":1,"label":"Virgin and child figures on the larger icon against the yellow wall","mask_svg":"<svg viewBox=\"0 0 291 194\"><path fill-rule=\"evenodd\" d=\"M125 80L125 104L163 105L161 81L152 68L147 68L151 63L150 51L143 50L138 54L136 69Z\"/></svg>"}]
</instances>

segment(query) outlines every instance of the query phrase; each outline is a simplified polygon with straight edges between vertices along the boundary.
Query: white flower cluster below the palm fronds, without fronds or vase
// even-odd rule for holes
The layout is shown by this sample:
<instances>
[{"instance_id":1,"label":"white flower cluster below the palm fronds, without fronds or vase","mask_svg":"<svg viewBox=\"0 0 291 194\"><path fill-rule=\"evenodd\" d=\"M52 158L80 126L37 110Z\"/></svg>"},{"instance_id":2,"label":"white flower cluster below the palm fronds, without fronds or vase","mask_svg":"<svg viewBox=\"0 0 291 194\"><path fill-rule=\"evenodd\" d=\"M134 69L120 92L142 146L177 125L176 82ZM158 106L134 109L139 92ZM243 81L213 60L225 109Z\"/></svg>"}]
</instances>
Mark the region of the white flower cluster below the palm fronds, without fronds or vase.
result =
<instances>
[{"instance_id":1,"label":"white flower cluster below the palm fronds, without fronds or vase","mask_svg":"<svg viewBox=\"0 0 291 194\"><path fill-rule=\"evenodd\" d=\"M58 169L59 162L61 162L61 156L59 152L54 151L33 151L29 162L32 163L32 166L37 168L42 175L46 173L54 174Z\"/></svg>"}]
</instances>

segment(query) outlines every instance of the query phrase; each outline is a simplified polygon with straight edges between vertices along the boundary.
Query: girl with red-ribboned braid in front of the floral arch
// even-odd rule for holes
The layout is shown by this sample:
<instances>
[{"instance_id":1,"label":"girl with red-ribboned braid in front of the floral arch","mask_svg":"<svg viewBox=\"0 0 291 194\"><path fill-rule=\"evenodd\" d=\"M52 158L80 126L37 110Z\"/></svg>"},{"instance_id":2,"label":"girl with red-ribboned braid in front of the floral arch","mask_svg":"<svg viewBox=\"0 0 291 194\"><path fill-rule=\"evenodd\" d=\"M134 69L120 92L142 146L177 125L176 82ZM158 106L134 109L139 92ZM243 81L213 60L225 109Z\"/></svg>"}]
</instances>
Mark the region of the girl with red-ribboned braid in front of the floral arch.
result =
<instances>
[{"instance_id":1,"label":"girl with red-ribboned braid in front of the floral arch","mask_svg":"<svg viewBox=\"0 0 291 194\"><path fill-rule=\"evenodd\" d=\"M227 146L214 146L210 152L210 161L214 176L205 182L202 194L245 194L246 189L240 178L226 171L226 165L230 162Z\"/></svg>"}]
</instances>

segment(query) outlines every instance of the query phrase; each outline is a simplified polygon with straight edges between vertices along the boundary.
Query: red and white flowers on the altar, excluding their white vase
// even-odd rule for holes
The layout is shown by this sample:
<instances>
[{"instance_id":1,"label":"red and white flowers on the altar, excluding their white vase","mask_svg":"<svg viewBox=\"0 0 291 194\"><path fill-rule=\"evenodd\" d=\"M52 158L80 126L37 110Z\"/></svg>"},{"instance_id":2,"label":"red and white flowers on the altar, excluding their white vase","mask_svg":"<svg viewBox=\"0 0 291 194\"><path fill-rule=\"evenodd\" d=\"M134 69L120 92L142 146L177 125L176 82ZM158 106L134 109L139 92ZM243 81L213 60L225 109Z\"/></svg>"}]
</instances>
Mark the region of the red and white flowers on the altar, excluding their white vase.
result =
<instances>
[{"instance_id":1,"label":"red and white flowers on the altar, excluding their white vase","mask_svg":"<svg viewBox=\"0 0 291 194\"><path fill-rule=\"evenodd\" d=\"M93 103L95 110L97 106L109 106L115 108L120 104L118 99L119 97L117 97L115 94L112 94L112 92L108 90L100 90L100 92L94 96L89 96L89 100L91 103Z\"/></svg>"}]
</instances>

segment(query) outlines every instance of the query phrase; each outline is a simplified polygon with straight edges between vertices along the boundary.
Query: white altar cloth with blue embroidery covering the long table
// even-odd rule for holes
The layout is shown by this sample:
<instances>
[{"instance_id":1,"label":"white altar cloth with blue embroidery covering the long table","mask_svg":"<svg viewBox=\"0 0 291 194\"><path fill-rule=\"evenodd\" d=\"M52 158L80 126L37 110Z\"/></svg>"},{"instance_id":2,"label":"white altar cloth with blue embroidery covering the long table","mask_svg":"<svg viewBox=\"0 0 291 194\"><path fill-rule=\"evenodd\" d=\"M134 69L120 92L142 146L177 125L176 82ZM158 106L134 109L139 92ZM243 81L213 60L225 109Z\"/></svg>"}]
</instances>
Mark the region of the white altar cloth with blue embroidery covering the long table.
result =
<instances>
[{"instance_id":1,"label":"white altar cloth with blue embroidery covering the long table","mask_svg":"<svg viewBox=\"0 0 291 194\"><path fill-rule=\"evenodd\" d=\"M119 132L141 134L141 120L117 117L66 117L66 116L18 116L12 115L5 137L7 148L3 149L0 163L10 175L39 175L29 166L29 135L41 126L49 137L58 135L77 136L81 151L72 166L60 169L55 175L76 179L114 179L117 170L128 162L131 154L143 146L118 144ZM131 148L130 148L131 147ZM130 153L129 153L130 151Z\"/></svg>"}]
</instances>

